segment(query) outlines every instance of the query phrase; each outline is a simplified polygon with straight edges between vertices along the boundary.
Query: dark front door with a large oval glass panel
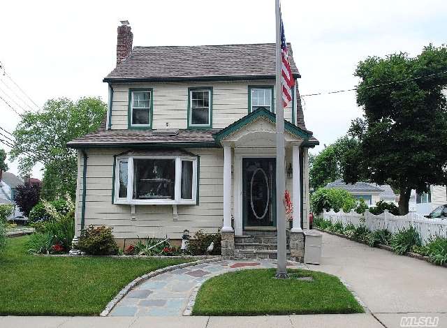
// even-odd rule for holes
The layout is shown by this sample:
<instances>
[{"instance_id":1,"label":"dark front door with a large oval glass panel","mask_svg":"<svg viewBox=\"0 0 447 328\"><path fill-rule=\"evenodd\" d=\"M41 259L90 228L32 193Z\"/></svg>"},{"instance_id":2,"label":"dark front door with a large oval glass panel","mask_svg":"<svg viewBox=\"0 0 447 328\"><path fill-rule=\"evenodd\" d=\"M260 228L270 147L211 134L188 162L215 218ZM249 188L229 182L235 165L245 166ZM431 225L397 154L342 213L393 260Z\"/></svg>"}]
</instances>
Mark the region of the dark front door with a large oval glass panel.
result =
<instances>
[{"instance_id":1,"label":"dark front door with a large oval glass panel","mask_svg":"<svg viewBox=\"0 0 447 328\"><path fill-rule=\"evenodd\" d=\"M242 158L244 228L276 226L275 158Z\"/></svg>"}]
</instances>

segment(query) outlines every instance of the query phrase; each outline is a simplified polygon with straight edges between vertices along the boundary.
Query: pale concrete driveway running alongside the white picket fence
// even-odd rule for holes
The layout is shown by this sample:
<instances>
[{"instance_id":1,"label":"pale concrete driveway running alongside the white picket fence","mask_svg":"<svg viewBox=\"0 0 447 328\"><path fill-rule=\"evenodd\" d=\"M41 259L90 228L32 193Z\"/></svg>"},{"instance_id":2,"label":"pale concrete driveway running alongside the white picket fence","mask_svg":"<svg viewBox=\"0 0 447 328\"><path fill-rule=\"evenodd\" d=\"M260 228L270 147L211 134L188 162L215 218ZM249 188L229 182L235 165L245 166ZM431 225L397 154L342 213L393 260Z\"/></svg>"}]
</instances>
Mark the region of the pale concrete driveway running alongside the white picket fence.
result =
<instances>
[{"instance_id":1,"label":"pale concrete driveway running alongside the white picket fence","mask_svg":"<svg viewBox=\"0 0 447 328\"><path fill-rule=\"evenodd\" d=\"M447 327L447 268L323 233L324 271L351 285L375 318L400 327L402 316L439 317Z\"/></svg>"}]
</instances>

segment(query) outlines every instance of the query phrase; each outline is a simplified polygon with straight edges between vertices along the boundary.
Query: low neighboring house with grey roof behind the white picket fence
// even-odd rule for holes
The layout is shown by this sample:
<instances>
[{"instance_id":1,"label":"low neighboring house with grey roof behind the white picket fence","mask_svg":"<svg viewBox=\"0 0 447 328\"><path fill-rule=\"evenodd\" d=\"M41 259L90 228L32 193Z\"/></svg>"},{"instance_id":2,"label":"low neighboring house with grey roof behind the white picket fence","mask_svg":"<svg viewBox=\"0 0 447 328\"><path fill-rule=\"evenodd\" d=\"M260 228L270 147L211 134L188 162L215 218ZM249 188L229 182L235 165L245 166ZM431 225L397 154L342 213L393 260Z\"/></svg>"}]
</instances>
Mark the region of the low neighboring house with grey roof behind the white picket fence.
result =
<instances>
[{"instance_id":1,"label":"low neighboring house with grey roof behind the white picket fence","mask_svg":"<svg viewBox=\"0 0 447 328\"><path fill-rule=\"evenodd\" d=\"M384 202L396 203L396 195L393 189L388 185L369 184L367 182L356 182L356 184L345 184L342 179L338 179L334 182L330 182L325 188L339 188L348 191L356 197L356 199L363 198L365 202L370 206L376 206L376 203L380 200Z\"/></svg>"}]
</instances>

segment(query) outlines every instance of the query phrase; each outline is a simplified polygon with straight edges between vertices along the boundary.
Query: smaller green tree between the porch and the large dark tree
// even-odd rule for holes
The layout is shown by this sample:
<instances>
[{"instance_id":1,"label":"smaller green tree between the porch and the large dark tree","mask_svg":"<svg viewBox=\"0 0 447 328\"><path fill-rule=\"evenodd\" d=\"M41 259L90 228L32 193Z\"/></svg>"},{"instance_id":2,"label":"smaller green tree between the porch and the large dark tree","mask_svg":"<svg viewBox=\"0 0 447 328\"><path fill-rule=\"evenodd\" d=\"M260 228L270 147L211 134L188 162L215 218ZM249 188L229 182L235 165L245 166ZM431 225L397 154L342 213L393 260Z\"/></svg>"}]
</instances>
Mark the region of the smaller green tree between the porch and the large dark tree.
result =
<instances>
[{"instance_id":1,"label":"smaller green tree between the porch and the large dark tree","mask_svg":"<svg viewBox=\"0 0 447 328\"><path fill-rule=\"evenodd\" d=\"M325 147L317 155L309 156L309 185L316 190L342 178L346 154L355 149L358 141L347 135Z\"/></svg>"}]
</instances>

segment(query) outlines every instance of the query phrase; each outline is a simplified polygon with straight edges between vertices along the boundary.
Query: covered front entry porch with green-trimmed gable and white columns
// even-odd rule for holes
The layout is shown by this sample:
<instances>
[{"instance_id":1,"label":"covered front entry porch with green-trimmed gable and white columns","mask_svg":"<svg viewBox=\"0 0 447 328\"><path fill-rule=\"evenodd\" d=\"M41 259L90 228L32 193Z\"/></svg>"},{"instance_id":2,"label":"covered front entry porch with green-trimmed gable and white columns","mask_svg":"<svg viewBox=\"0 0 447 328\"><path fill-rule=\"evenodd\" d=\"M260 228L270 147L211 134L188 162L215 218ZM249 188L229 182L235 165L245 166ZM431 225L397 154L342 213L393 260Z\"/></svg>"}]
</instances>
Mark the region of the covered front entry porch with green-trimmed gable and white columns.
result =
<instances>
[{"instance_id":1,"label":"covered front entry porch with green-trimmed gable and white columns","mask_svg":"<svg viewBox=\"0 0 447 328\"><path fill-rule=\"evenodd\" d=\"M276 148L274 114L268 111L251 113L217 134L223 147L223 255L232 257L241 246L242 253L263 251L276 254L277 220L288 220L291 256L302 257L293 247L304 248L302 235L303 158L307 133L286 122L286 190L291 194L293 213L288 218L276 217ZM290 236L289 236L290 235ZM289 238L288 238L289 240ZM295 244L294 244L295 243ZM248 245L250 244L250 245ZM247 248L248 246L252 246ZM261 249L258 249L261 248ZM236 250L236 251L235 251ZM227 254L224 254L227 253ZM265 254L264 254L265 255ZM240 257L240 256L239 256ZM260 256L247 256L260 258ZM262 256L261 258L274 258Z\"/></svg>"}]
</instances>

